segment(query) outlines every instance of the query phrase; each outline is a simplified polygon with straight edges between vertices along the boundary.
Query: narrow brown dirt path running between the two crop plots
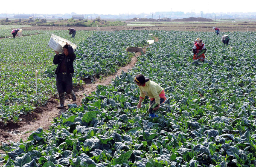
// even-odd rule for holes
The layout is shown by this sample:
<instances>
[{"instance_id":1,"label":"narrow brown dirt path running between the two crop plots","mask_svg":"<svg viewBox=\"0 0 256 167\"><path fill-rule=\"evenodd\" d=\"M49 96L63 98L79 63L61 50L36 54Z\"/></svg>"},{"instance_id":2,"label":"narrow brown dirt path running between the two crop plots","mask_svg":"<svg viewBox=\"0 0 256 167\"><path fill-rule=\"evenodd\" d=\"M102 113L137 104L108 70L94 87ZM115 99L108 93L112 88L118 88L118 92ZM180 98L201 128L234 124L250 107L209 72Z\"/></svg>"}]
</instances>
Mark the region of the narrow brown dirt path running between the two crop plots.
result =
<instances>
[{"instance_id":1,"label":"narrow brown dirt path running between the two crop plots","mask_svg":"<svg viewBox=\"0 0 256 167\"><path fill-rule=\"evenodd\" d=\"M143 52L145 53L145 48L143 49ZM116 75L120 75L122 71L128 72L128 69L132 69L135 66L137 57L140 55L140 52L136 53L135 56L131 58L131 63L129 63L127 66L121 67L115 74L102 78L101 80L96 79L95 83L91 83L91 80L86 80L85 85L76 87L74 89L77 97L75 103L77 105L81 105L82 98L84 98L84 93L88 95L91 92L96 91L97 85L109 85ZM66 95L65 104L73 103L74 102L71 100L71 97ZM39 127L42 127L44 130L48 130L52 124L53 118L59 117L61 112L66 112L68 109L68 107L64 109L57 109L56 106L58 105L58 97L52 97L49 99L46 106L37 108L32 114L20 116L22 121L18 122L17 124L9 123L7 126L0 125L0 142L17 142L20 141L20 139L26 141L31 132L37 130Z\"/></svg>"}]
</instances>

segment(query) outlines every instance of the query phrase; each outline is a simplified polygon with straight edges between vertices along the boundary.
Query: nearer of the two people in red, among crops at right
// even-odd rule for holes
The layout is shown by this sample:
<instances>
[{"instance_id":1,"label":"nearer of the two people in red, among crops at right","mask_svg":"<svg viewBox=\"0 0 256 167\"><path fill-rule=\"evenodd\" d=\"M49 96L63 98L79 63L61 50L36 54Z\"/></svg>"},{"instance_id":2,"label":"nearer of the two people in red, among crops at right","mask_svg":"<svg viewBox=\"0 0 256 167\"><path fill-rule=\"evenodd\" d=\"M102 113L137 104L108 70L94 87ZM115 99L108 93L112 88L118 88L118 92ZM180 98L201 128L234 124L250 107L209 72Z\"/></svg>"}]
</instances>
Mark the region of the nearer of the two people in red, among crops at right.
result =
<instances>
[{"instance_id":1,"label":"nearer of the two people in red, among crops at right","mask_svg":"<svg viewBox=\"0 0 256 167\"><path fill-rule=\"evenodd\" d=\"M203 40L199 39L198 43L196 43L193 47L193 61L200 59L201 61L205 60L205 55L204 53L206 52L205 45L203 43Z\"/></svg>"}]
</instances>

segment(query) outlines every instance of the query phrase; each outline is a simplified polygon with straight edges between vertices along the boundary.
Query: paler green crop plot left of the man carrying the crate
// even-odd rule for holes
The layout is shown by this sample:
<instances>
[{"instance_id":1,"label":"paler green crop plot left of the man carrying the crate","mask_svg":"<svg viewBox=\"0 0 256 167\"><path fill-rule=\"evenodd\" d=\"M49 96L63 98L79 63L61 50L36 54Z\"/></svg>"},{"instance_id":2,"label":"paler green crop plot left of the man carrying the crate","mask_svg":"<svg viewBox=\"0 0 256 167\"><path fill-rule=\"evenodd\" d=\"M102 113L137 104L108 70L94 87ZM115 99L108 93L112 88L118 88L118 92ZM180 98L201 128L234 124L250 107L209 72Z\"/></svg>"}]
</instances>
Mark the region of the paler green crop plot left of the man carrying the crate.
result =
<instances>
[{"instance_id":1,"label":"paler green crop plot left of the man carrying the crate","mask_svg":"<svg viewBox=\"0 0 256 167\"><path fill-rule=\"evenodd\" d=\"M54 67L54 54L47 46L50 33L59 35L61 31L0 40L0 120L4 123L19 121L20 114L32 112L54 94L55 80L45 73L49 67ZM88 32L81 34L90 35ZM81 40L84 39L71 39L74 43ZM35 70L39 71L38 95L35 95Z\"/></svg>"}]
</instances>

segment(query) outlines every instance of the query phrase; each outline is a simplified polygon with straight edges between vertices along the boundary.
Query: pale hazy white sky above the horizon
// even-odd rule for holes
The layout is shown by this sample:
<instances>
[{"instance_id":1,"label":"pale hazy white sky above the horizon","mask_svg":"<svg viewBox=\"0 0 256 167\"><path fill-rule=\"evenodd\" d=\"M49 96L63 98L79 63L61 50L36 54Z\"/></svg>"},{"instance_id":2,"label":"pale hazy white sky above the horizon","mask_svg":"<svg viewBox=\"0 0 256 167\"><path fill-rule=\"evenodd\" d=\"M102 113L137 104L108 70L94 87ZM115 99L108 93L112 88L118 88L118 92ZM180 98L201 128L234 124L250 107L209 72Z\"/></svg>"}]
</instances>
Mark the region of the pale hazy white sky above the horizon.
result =
<instances>
[{"instance_id":1,"label":"pale hazy white sky above the horizon","mask_svg":"<svg viewBox=\"0 0 256 167\"><path fill-rule=\"evenodd\" d=\"M151 12L256 12L256 0L1 0L0 13L140 14Z\"/></svg>"}]
</instances>

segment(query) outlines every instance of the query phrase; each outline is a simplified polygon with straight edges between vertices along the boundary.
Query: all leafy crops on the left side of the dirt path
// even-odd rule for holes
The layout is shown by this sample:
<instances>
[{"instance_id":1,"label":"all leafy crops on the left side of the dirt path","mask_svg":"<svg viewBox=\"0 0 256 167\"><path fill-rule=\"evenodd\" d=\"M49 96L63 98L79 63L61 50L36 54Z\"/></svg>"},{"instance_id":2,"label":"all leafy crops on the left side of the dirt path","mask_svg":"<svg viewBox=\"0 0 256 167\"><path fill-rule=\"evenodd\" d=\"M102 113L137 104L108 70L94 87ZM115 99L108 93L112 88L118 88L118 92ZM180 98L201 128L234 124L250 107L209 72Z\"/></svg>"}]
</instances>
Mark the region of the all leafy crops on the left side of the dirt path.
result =
<instances>
[{"instance_id":1,"label":"all leafy crops on the left side of the dirt path","mask_svg":"<svg viewBox=\"0 0 256 167\"><path fill-rule=\"evenodd\" d=\"M120 66L129 63L133 56L125 48L144 46L147 39L147 35L139 38L140 33L134 31L102 32L88 38L91 32L79 31L74 39L67 31L40 31L38 35L0 40L0 121L5 124L10 120L19 121L19 115L32 112L35 107L46 104L50 96L55 95L56 66L52 64L54 52L47 46L51 33L79 45L74 63L75 86L83 84L84 78L93 79L92 76L113 74ZM126 40L128 34L134 36ZM119 40L111 43L114 38ZM79 44L80 41L83 42ZM103 42L106 47L102 46ZM38 70L37 95L35 70Z\"/></svg>"}]
</instances>

